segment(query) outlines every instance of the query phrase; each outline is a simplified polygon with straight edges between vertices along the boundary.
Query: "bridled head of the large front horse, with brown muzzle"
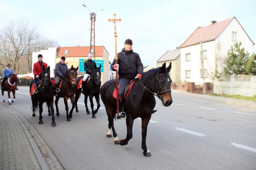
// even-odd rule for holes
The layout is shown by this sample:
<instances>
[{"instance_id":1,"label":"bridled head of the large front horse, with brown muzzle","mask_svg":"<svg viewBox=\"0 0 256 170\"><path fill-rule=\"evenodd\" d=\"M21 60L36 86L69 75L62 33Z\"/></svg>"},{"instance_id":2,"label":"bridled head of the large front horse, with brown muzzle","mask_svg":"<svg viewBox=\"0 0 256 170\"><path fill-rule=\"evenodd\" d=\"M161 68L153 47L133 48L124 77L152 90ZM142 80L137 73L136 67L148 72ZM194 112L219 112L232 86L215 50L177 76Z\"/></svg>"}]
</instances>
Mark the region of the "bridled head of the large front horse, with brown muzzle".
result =
<instances>
[{"instance_id":1,"label":"bridled head of the large front horse, with brown muzzle","mask_svg":"<svg viewBox=\"0 0 256 170\"><path fill-rule=\"evenodd\" d=\"M171 70L171 63L166 68L165 63L158 68L157 77L154 81L153 91L157 93L158 97L162 101L163 106L170 106L172 104L171 97L171 83L169 72Z\"/></svg>"}]
</instances>

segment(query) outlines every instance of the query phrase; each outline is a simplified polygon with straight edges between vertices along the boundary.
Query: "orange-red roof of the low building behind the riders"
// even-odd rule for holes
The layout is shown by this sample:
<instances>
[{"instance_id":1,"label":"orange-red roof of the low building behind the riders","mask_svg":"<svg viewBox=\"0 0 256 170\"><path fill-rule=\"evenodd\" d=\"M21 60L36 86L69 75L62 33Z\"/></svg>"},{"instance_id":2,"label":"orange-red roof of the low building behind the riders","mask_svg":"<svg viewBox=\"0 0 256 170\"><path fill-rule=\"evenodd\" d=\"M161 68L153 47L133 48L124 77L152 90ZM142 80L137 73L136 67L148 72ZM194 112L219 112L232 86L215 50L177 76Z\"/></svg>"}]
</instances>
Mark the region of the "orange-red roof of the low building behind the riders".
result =
<instances>
[{"instance_id":1,"label":"orange-red roof of the low building behind the riders","mask_svg":"<svg viewBox=\"0 0 256 170\"><path fill-rule=\"evenodd\" d=\"M95 46L95 55L96 57L102 57L103 56L103 49L104 46ZM65 51L68 50L68 54L65 55ZM59 47L57 57L87 57L90 53L90 47L82 47L82 46L76 46L76 47Z\"/></svg>"}]
</instances>

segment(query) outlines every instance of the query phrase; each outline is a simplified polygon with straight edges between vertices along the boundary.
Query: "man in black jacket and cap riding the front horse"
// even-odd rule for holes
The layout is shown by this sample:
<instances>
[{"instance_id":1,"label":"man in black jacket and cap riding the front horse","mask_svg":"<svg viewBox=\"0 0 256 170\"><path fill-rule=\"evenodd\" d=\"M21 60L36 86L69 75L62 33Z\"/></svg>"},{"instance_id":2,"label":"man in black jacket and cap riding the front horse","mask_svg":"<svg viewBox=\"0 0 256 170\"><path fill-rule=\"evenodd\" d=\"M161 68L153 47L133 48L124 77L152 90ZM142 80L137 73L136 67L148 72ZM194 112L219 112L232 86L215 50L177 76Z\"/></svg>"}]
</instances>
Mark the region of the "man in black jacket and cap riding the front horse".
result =
<instances>
[{"instance_id":1,"label":"man in black jacket and cap riding the front horse","mask_svg":"<svg viewBox=\"0 0 256 170\"><path fill-rule=\"evenodd\" d=\"M117 64L115 59L111 64L112 70L118 70L119 79L119 110L121 111L121 119L126 119L126 113L124 112L124 96L126 85L132 79L140 79L143 74L143 64L137 53L132 50L131 39L126 39L122 52L117 54Z\"/></svg>"}]
</instances>

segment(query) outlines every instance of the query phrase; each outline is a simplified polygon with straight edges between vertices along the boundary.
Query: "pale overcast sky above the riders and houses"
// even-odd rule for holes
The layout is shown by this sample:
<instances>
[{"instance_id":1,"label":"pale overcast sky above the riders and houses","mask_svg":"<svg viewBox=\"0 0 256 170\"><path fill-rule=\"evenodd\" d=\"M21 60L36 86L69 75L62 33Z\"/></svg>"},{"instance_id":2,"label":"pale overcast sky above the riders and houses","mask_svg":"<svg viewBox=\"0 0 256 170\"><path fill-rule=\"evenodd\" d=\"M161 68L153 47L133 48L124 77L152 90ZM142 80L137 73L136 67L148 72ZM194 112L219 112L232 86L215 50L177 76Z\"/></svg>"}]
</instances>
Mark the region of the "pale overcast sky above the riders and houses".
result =
<instances>
[{"instance_id":1,"label":"pale overcast sky above the riders and houses","mask_svg":"<svg viewBox=\"0 0 256 170\"><path fill-rule=\"evenodd\" d=\"M0 28L10 20L25 19L62 47L90 46L90 11L82 4L96 11L95 44L105 46L111 62L114 24L108 19L114 13L122 19L117 23L117 51L130 38L144 66L156 67L162 55L211 21L236 17L256 43L256 0L0 0Z\"/></svg>"}]
</instances>

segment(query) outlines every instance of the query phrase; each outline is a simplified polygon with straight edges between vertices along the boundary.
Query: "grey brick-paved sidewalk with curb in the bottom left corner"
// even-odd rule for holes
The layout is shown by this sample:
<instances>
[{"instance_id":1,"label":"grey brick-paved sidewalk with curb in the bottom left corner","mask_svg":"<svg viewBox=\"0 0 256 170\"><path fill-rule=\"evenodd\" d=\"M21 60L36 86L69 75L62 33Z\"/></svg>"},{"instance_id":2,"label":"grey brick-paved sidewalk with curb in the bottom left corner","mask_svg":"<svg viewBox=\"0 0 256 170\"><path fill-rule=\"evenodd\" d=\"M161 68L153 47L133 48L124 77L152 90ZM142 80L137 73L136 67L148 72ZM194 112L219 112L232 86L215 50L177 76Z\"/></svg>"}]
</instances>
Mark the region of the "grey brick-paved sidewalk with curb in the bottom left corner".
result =
<instances>
[{"instance_id":1,"label":"grey brick-paved sidewalk with curb in the bottom left corner","mask_svg":"<svg viewBox=\"0 0 256 170\"><path fill-rule=\"evenodd\" d=\"M1 103L0 170L64 170L32 124Z\"/></svg>"}]
</instances>

